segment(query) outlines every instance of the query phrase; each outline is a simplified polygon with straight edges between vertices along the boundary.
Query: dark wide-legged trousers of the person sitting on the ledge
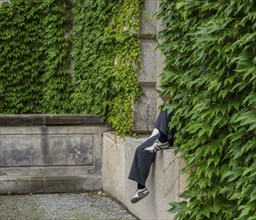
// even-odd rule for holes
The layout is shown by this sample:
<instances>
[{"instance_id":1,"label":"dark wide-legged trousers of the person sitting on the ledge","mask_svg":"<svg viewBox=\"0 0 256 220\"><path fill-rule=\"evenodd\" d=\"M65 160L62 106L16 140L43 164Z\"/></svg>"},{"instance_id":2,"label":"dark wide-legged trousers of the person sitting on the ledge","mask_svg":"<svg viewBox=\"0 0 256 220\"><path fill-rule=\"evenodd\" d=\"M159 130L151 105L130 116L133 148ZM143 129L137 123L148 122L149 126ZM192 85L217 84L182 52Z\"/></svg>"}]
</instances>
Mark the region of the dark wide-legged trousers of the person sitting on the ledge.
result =
<instances>
[{"instance_id":1,"label":"dark wide-legged trousers of the person sitting on the ledge","mask_svg":"<svg viewBox=\"0 0 256 220\"><path fill-rule=\"evenodd\" d=\"M172 115L172 113L168 114L166 111L160 112L155 122L155 128L157 128L159 132L165 134L168 137L168 142L170 146L173 145L174 132L172 134L169 131L168 124L171 121ZM159 136L160 134L157 134L147 139L144 143L136 148L128 179L136 181L141 185L145 185L151 165L155 160L156 153L150 153L145 151L144 149L153 145L153 143L159 138Z\"/></svg>"}]
</instances>

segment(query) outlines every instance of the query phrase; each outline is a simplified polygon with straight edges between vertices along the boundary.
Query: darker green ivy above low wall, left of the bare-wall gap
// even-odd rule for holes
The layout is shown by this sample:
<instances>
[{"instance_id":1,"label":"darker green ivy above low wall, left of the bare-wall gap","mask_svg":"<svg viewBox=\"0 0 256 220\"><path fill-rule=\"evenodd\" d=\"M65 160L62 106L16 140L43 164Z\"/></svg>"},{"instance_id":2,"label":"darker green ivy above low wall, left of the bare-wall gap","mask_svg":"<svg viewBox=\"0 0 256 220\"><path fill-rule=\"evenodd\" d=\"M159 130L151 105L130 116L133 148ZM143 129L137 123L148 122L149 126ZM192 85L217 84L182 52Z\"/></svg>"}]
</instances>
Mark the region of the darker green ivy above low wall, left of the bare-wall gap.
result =
<instances>
[{"instance_id":1,"label":"darker green ivy above low wall, left of the bare-wall gap","mask_svg":"<svg viewBox=\"0 0 256 220\"><path fill-rule=\"evenodd\" d=\"M0 6L0 112L70 108L70 3L12 0Z\"/></svg>"}]
</instances>

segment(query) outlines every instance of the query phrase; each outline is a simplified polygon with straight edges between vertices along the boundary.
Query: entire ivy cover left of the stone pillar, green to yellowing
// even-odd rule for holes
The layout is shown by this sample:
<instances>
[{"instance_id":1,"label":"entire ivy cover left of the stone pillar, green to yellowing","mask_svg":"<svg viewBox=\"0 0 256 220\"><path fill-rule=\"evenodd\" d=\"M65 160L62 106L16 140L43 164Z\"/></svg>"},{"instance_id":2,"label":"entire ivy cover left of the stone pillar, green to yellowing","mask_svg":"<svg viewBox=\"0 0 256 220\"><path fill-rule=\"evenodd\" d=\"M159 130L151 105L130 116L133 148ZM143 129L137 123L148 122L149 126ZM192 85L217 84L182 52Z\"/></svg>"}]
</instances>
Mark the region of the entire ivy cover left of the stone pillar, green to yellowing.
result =
<instances>
[{"instance_id":1,"label":"entire ivy cover left of the stone pillar, green to yellowing","mask_svg":"<svg viewBox=\"0 0 256 220\"><path fill-rule=\"evenodd\" d=\"M141 3L3 3L0 113L99 114L119 133L130 133L140 96Z\"/></svg>"}]
</instances>

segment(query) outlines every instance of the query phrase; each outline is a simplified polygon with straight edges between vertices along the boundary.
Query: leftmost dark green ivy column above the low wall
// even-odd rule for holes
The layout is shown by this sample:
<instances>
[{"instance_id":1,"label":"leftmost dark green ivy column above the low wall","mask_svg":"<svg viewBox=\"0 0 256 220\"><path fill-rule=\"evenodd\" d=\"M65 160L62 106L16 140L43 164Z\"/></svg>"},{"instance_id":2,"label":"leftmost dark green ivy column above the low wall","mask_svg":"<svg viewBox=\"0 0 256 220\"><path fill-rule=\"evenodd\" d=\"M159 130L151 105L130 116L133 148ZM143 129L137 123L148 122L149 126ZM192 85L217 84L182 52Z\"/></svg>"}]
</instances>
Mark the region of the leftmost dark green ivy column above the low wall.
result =
<instances>
[{"instance_id":1,"label":"leftmost dark green ivy column above the low wall","mask_svg":"<svg viewBox=\"0 0 256 220\"><path fill-rule=\"evenodd\" d=\"M33 10L32 10L33 8ZM0 6L0 112L25 113L38 108L42 11L36 1Z\"/></svg>"}]
</instances>

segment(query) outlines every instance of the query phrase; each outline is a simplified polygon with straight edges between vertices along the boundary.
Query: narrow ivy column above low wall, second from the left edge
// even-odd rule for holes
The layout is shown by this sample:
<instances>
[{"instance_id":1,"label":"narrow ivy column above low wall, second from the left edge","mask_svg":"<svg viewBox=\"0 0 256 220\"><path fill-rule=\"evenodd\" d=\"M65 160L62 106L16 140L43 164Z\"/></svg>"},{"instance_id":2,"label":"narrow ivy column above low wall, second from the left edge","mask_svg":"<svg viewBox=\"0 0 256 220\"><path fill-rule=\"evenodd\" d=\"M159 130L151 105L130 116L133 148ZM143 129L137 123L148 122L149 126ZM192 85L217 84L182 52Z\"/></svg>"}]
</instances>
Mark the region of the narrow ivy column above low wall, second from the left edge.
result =
<instances>
[{"instance_id":1,"label":"narrow ivy column above low wall, second from the left edge","mask_svg":"<svg viewBox=\"0 0 256 220\"><path fill-rule=\"evenodd\" d=\"M47 2L47 1L46 1ZM73 83L71 75L72 2L49 0L44 5L42 61L42 112L70 113Z\"/></svg>"}]
</instances>

